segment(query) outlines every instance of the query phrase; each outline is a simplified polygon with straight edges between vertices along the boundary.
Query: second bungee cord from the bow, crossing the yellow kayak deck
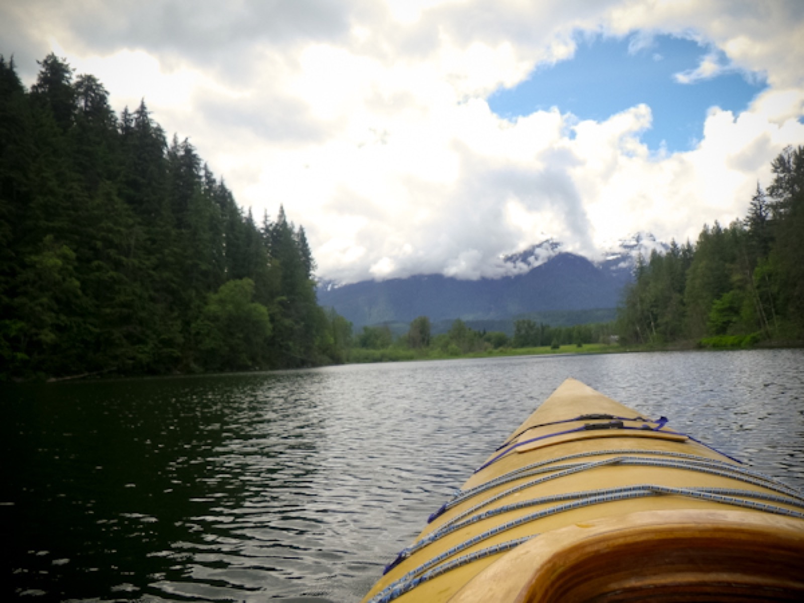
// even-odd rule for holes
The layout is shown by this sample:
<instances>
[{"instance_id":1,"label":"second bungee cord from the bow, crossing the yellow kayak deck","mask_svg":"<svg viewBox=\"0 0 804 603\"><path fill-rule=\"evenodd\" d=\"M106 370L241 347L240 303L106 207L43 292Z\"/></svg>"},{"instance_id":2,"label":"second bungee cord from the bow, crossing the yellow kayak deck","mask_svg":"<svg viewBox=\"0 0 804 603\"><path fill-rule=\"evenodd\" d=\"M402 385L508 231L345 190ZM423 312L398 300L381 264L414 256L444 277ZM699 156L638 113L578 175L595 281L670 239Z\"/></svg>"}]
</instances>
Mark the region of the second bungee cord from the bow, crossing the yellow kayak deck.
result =
<instances>
[{"instance_id":1,"label":"second bungee cord from the bow, crossing the yellow kayak deck","mask_svg":"<svg viewBox=\"0 0 804 603\"><path fill-rule=\"evenodd\" d=\"M614 458L607 458L603 461L596 461L593 463L576 463L573 466L568 466L570 468L560 471L559 473L548 475L544 478L539 478L535 480L531 480L530 482L525 482L523 484L519 484L519 486L514 486L513 488L509 488L508 490L504 490L499 494L495 494L491 498L486 498L486 500L482 501L482 503L478 503L474 507L463 511L461 514L456 515L453 518L450 518L449 521L445 522L444 525L449 525L450 523L456 523L461 519L472 515L475 511L478 511L482 507L486 507L492 503L496 503L498 500L502 498L506 498L511 494L515 494L521 490L527 490L527 488L531 488L534 486L538 486L544 482L549 482L556 478L564 478L568 475L580 473L580 471L597 469L599 467L608 466L608 465L622 465L622 466L649 466L649 467L665 467L668 469L683 469L683 470L692 470L692 471L699 471L700 473L705 474L712 474L720 476L721 478L730 478L736 479L740 482L745 482L752 484L753 486L760 486L762 488L767 488L768 490L774 490L776 492L781 492L782 494L788 494L789 496L794 496L794 498L802 498L801 495L798 493L791 493L786 488L777 487L773 482L768 483L765 480L756 479L753 476L746 476L740 470L740 467L730 467L728 470L725 468L721 468L720 466L715 465L714 467L709 465L708 463L699 462L698 464L694 464L697 461L667 461L667 460L658 460L658 459L650 459L650 458L639 458L639 457L614 457ZM567 467L567 466L561 466ZM555 469L558 469L556 467ZM553 469L553 468L550 468ZM550 470L548 469L548 470ZM544 473L545 469L538 470L539 473ZM530 474L522 475L520 477L530 477ZM801 505L802 503L797 503ZM442 526L443 527L443 526ZM441 528L439 528L441 529Z\"/></svg>"}]
</instances>

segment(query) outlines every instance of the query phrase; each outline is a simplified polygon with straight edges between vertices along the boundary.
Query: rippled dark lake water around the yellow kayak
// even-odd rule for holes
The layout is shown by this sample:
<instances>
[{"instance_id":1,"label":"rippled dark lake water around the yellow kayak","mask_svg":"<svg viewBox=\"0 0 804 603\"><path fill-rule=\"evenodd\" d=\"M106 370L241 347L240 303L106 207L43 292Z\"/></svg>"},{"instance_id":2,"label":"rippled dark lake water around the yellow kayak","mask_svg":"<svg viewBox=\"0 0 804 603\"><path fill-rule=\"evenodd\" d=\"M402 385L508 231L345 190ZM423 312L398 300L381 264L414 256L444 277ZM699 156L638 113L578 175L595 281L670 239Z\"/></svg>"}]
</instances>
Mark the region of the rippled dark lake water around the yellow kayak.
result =
<instances>
[{"instance_id":1,"label":"rippled dark lake water around the yellow kayak","mask_svg":"<svg viewBox=\"0 0 804 603\"><path fill-rule=\"evenodd\" d=\"M6 386L0 599L359 601L562 381L804 488L804 351Z\"/></svg>"}]
</instances>

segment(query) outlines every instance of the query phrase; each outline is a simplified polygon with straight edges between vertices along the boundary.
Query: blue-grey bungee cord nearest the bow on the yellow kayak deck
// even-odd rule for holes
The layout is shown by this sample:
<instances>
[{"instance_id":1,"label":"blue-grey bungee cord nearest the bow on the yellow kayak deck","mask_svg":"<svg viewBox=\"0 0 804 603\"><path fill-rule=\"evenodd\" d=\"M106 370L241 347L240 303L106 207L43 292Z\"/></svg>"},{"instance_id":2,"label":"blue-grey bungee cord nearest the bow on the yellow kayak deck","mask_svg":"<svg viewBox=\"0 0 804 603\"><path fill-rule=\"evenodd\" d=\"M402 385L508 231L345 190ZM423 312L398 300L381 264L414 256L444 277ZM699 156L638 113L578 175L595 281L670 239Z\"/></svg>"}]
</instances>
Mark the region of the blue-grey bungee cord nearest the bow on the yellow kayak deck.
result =
<instances>
[{"instance_id":1,"label":"blue-grey bungee cord nearest the bow on the yellow kayak deck","mask_svg":"<svg viewBox=\"0 0 804 603\"><path fill-rule=\"evenodd\" d=\"M654 455L662 456L662 457L675 457L675 458L685 459L685 460L689 460L689 461L697 461L697 462L700 462L700 463L708 463L711 466L718 466L718 467L720 467L721 469L724 469L724 470L735 471L735 472L738 472L738 473L741 473L741 474L750 475L753 478L761 479L761 480L763 480L763 481L765 481L765 482L767 482L769 484L773 484L773 486L776 486L776 488L774 488L774 489L777 490L777 491L781 491L781 492L784 492L785 494L788 494L789 496L793 496L795 498L801 498L802 500L804 500L804 493L799 492L798 490L794 489L792 486L788 486L786 483L781 482L781 481L777 480L776 478L772 478L769 475L761 474L759 471L749 470L746 467L736 467L736 466L732 465L731 463L728 463L728 462L725 462L725 461L720 461L720 459L708 458L708 457L700 457L700 456L695 455L695 454L677 453L677 452L671 452L671 451L667 451L667 450L609 449L609 450L593 450L593 451L584 452L584 453L568 454L568 455L566 455L564 457L556 457L556 458L548 459L548 460L545 460L545 461L539 461L539 462L536 462L536 463L532 463L531 465L527 465L527 466L524 466L524 467L519 467L519 469L515 469L513 471L510 471L507 474L503 474L503 475L499 476L498 478L494 478L494 479L490 480L489 482L480 484L479 486L474 486L474 488L470 488L469 490L456 490L455 494L453 494L453 498L451 498L449 501L444 503L441 506L441 508L439 508L435 513L433 513L433 515L430 515L430 517L428 519L428 523L432 523L434 519L436 519L437 517L442 515L445 511L447 511L447 510L451 509L452 507L455 507L456 505L464 502L467 498L472 498L472 497L474 497L474 496L476 496L478 494L482 494L482 492L485 492L486 490L490 490L490 489L495 488L497 486L501 486L501 485L503 485L505 483L515 482L518 479L528 478L528 477L531 477L533 475L547 473L548 471L560 470L560 469L564 469L564 468L568 467L568 466L553 466L553 467L547 467L547 468L544 468L544 469L540 469L540 468L543 468L544 466L552 465L553 463L556 463L556 462L569 461L569 460L572 460L572 459L575 459L575 458L596 457L596 456L601 456L603 454L654 454ZM540 469L540 470L538 470L538 469Z\"/></svg>"}]
</instances>

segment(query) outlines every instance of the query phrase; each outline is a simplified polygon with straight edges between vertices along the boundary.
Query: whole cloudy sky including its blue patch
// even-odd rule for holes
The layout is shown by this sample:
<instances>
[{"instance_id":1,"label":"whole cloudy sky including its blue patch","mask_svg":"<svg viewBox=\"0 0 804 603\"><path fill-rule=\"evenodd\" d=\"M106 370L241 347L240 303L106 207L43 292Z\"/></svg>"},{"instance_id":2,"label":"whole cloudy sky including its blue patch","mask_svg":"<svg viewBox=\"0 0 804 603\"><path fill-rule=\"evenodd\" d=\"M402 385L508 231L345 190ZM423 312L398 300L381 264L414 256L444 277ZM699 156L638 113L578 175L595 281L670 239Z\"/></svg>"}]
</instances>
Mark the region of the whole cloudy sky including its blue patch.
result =
<instances>
[{"instance_id":1,"label":"whole cloudy sky including its blue patch","mask_svg":"<svg viewBox=\"0 0 804 603\"><path fill-rule=\"evenodd\" d=\"M0 54L145 99L341 283L698 236L804 144L800 0L17 0Z\"/></svg>"}]
</instances>

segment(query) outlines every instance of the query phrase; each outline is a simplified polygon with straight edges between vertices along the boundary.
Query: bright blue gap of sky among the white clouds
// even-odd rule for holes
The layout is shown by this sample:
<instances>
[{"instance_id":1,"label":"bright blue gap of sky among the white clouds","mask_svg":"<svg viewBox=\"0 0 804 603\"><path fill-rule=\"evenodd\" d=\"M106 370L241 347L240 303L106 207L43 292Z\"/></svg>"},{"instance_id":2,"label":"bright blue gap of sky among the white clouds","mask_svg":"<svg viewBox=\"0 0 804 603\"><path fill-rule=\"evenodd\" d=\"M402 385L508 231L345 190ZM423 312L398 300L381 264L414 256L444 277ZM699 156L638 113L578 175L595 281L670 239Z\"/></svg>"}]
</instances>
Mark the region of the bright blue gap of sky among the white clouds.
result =
<instances>
[{"instance_id":1,"label":"bright blue gap of sky among the white clouds","mask_svg":"<svg viewBox=\"0 0 804 603\"><path fill-rule=\"evenodd\" d=\"M490 96L489 106L508 119L555 106L580 120L602 121L644 103L650 107L653 123L642 133L642 142L651 150L665 142L672 152L695 147L710 107L739 113L766 88L762 74L728 68L711 79L679 83L676 74L695 71L704 56L715 56L722 66L728 65L728 59L711 47L670 35L656 36L646 47L630 51L637 41L634 37L583 39L572 59L535 68L515 88Z\"/></svg>"}]
</instances>

